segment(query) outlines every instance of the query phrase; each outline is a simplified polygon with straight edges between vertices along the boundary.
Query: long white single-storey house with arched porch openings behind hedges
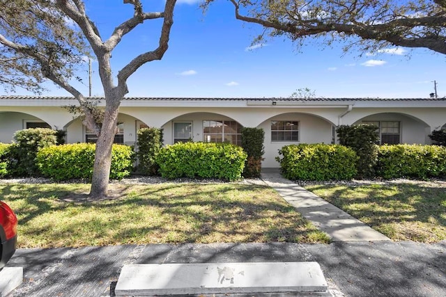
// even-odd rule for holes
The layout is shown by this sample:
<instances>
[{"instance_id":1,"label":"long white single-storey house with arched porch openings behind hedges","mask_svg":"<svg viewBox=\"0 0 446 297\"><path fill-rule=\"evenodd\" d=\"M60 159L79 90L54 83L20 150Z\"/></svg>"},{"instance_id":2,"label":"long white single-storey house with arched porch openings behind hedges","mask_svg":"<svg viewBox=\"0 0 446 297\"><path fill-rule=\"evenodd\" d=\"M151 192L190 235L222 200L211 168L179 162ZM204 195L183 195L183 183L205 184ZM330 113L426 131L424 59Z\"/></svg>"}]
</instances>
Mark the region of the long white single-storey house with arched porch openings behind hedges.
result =
<instances>
[{"instance_id":1,"label":"long white single-storey house with arched porch openings behind hedges","mask_svg":"<svg viewBox=\"0 0 446 297\"><path fill-rule=\"evenodd\" d=\"M105 104L101 98L98 106ZM95 135L63 106L72 97L0 96L0 142L15 131L52 127L67 143L93 142ZM121 102L116 143L133 145L141 127L164 129L164 144L205 141L240 144L241 127L265 131L263 167L279 167L278 150L295 143L336 143L337 125L374 124L380 143L430 144L431 131L446 123L446 98L150 98Z\"/></svg>"}]
</instances>

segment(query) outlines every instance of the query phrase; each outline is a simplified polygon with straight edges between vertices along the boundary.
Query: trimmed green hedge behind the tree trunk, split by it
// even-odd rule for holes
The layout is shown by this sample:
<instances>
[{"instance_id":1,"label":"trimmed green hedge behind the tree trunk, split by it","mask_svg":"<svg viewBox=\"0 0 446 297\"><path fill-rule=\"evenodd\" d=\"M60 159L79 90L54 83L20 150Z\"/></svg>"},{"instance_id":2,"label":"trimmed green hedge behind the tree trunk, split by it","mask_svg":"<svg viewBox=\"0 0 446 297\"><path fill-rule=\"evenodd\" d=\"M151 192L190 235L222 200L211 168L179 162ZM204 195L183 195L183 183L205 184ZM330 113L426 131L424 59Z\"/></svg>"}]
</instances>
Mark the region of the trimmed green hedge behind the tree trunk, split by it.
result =
<instances>
[{"instance_id":1,"label":"trimmed green hedge behind the tree trunk, split by it","mask_svg":"<svg viewBox=\"0 0 446 297\"><path fill-rule=\"evenodd\" d=\"M110 179L130 175L133 150L128 145L113 145ZM36 163L45 177L56 180L91 179L95 158L95 144L77 143L52 145L38 151Z\"/></svg>"}]
</instances>

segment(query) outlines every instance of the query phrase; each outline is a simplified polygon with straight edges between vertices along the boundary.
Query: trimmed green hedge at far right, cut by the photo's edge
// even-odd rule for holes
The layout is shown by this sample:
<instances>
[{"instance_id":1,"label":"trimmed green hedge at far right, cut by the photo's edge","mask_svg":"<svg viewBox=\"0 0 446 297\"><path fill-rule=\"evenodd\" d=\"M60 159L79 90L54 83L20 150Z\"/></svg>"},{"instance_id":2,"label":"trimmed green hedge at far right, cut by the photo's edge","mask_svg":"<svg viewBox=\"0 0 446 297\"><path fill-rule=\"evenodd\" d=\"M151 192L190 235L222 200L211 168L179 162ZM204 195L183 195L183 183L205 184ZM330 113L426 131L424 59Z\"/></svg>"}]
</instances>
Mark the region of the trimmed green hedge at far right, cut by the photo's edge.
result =
<instances>
[{"instance_id":1,"label":"trimmed green hedge at far right, cut by the photo's edge","mask_svg":"<svg viewBox=\"0 0 446 297\"><path fill-rule=\"evenodd\" d=\"M376 171L385 179L443 177L446 175L446 147L382 145L378 150Z\"/></svg>"}]
</instances>

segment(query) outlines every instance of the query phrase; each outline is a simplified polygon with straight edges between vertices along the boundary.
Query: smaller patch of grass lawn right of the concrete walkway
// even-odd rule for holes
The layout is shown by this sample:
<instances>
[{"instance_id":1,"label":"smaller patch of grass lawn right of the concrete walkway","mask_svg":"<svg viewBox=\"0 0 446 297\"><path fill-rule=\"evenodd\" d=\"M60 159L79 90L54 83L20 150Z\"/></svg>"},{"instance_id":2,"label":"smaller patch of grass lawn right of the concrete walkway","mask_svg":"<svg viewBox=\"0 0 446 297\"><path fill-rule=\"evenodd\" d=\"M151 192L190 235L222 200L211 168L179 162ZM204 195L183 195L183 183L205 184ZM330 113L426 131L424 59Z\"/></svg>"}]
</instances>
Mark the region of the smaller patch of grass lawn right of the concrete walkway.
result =
<instances>
[{"instance_id":1,"label":"smaller patch of grass lawn right of the concrete walkway","mask_svg":"<svg viewBox=\"0 0 446 297\"><path fill-rule=\"evenodd\" d=\"M319 184L305 188L392 240L433 243L446 239L445 185L399 182Z\"/></svg>"}]
</instances>

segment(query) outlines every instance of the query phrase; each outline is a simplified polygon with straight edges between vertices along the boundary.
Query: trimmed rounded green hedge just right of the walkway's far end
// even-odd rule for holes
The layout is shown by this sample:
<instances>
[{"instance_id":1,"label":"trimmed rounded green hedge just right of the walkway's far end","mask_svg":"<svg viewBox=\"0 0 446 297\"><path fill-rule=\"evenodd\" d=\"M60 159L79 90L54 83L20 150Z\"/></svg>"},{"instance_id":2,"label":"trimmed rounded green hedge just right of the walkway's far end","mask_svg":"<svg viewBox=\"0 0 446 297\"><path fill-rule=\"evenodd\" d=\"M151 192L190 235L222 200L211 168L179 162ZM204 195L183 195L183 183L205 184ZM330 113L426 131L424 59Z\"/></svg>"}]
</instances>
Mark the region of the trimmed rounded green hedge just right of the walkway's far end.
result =
<instances>
[{"instance_id":1,"label":"trimmed rounded green hedge just right of the walkway's far end","mask_svg":"<svg viewBox=\"0 0 446 297\"><path fill-rule=\"evenodd\" d=\"M300 144L287 145L276 157L282 174L288 179L341 180L352 179L356 174L355 152L343 145Z\"/></svg>"}]
</instances>

